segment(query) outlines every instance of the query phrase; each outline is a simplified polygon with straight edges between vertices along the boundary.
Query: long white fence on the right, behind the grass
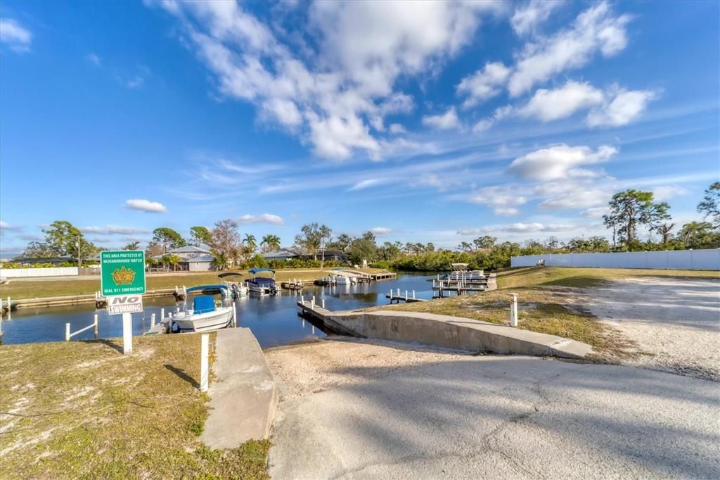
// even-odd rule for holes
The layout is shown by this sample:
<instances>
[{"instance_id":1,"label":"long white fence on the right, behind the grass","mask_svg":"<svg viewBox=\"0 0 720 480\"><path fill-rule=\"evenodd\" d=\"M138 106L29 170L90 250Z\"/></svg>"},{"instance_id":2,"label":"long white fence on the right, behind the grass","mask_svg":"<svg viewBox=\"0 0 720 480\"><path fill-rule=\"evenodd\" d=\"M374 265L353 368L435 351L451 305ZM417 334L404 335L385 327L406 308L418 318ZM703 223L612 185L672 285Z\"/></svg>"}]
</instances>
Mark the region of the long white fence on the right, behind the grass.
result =
<instances>
[{"instance_id":1,"label":"long white fence on the right, behind the grass","mask_svg":"<svg viewBox=\"0 0 720 480\"><path fill-rule=\"evenodd\" d=\"M546 267L720 270L720 249L523 255L521 257L512 257L510 265L513 267L534 267L539 260L544 260Z\"/></svg>"}]
</instances>

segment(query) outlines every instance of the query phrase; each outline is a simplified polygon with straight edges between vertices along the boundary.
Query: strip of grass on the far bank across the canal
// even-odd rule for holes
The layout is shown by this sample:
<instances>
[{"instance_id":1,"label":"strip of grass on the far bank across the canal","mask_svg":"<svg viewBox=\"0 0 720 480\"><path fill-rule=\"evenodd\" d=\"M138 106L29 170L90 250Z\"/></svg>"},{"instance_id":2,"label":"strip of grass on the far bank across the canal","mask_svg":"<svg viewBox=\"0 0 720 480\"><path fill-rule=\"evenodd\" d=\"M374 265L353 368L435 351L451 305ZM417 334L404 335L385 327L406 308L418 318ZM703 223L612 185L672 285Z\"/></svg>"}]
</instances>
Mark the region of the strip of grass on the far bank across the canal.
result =
<instances>
[{"instance_id":1,"label":"strip of grass on the far bank across the canal","mask_svg":"<svg viewBox=\"0 0 720 480\"><path fill-rule=\"evenodd\" d=\"M379 269L367 269L365 272L376 272ZM148 275L148 290L161 288L175 288L179 285L188 287L193 285L214 285L218 283L217 275L220 272L178 272L176 274L152 274ZM243 273L243 271L240 271ZM302 280L315 280L316 278L328 275L328 270L277 270L275 278L279 282L285 282L292 278ZM250 278L244 272L244 278ZM21 280L10 279L9 283L0 285L0 297L21 300L22 298L44 298L63 295L83 295L95 293L100 290L100 277L91 279L73 279L73 277L55 278L53 280Z\"/></svg>"}]
</instances>

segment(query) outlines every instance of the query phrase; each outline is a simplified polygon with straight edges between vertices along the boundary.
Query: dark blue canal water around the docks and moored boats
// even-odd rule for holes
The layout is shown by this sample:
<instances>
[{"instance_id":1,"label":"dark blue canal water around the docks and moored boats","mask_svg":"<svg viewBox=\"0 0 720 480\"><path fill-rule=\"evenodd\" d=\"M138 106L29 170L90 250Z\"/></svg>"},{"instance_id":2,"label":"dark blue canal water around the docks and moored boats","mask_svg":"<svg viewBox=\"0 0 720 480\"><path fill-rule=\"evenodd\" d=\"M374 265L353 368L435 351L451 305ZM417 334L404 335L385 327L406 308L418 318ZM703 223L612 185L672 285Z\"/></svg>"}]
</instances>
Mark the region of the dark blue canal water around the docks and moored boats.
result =
<instances>
[{"instance_id":1,"label":"dark blue canal water around the docks and moored boats","mask_svg":"<svg viewBox=\"0 0 720 480\"><path fill-rule=\"evenodd\" d=\"M376 305L387 305L389 302L385 295L390 289L405 295L408 290L410 296L415 290L418 298L431 298L431 280L434 276L399 274L397 280L387 280L361 285L340 285L333 287L306 287L302 295L309 300L315 295L325 298L325 308L329 310L350 310ZM216 295L219 298L219 295ZM282 290L279 296L247 296L235 300L238 311L238 326L251 329L258 339L260 346L276 347L298 342L313 337L325 337L325 333L309 321L303 320L298 314L297 301L300 293ZM142 314L132 314L132 334L142 335L150 328L150 315L156 314L160 319L161 308L166 314L176 308L184 308L183 302L176 302L172 296L145 298L143 300L145 311ZM192 295L188 299L192 305ZM71 332L76 332L93 322L93 315L98 314L98 330L100 338L122 337L122 316L109 316L103 309L95 310L91 303L74 306L61 306L50 308L21 308L13 311L12 316L5 314L2 319L4 345L32 342L60 342L65 339L65 324L71 324ZM73 337L73 340L92 339L92 329Z\"/></svg>"}]
</instances>

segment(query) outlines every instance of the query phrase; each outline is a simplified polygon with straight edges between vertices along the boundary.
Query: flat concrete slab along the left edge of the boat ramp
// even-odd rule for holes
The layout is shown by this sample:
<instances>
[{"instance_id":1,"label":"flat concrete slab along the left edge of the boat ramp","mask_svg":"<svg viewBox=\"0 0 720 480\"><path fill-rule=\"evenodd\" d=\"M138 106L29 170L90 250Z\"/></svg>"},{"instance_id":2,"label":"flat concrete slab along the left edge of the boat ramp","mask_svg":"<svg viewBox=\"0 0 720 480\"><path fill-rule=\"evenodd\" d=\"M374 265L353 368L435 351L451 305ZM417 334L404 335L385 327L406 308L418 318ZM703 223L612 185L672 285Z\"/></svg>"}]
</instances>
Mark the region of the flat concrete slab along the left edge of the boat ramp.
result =
<instances>
[{"instance_id":1,"label":"flat concrete slab along the left edge of the boat ramp","mask_svg":"<svg viewBox=\"0 0 720 480\"><path fill-rule=\"evenodd\" d=\"M211 448L235 448L270 435L278 402L265 355L250 329L217 332L210 415L200 440Z\"/></svg>"}]
</instances>

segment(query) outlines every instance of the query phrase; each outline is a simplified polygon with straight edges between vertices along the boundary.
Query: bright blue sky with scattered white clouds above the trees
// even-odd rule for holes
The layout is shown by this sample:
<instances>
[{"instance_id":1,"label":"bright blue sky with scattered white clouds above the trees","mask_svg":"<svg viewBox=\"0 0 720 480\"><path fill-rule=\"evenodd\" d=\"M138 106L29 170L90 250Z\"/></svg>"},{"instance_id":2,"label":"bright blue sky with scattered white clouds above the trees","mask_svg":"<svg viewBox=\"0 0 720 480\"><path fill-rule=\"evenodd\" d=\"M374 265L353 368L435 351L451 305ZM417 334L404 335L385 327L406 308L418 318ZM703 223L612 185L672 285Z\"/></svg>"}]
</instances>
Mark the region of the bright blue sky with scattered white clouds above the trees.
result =
<instances>
[{"instance_id":1,"label":"bright blue sky with scattered white clouds above the trees","mask_svg":"<svg viewBox=\"0 0 720 480\"><path fill-rule=\"evenodd\" d=\"M236 218L456 246L696 220L719 172L719 4L0 5L3 256Z\"/></svg>"}]
</instances>

